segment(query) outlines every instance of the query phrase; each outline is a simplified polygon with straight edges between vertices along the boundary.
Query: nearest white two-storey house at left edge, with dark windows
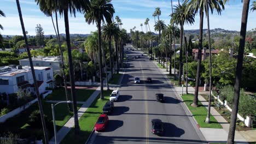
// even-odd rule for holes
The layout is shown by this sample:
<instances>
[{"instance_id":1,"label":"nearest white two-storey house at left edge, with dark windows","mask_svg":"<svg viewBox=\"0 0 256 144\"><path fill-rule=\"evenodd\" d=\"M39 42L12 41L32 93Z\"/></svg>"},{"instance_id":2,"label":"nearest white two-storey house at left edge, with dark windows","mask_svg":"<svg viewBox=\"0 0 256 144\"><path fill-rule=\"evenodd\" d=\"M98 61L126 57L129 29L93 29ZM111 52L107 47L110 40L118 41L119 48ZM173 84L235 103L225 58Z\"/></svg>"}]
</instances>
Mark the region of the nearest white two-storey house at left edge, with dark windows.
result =
<instances>
[{"instance_id":1,"label":"nearest white two-storey house at left edge, with dark windows","mask_svg":"<svg viewBox=\"0 0 256 144\"><path fill-rule=\"evenodd\" d=\"M34 67L39 93L46 91L46 87L54 88L53 69L51 67ZM19 89L35 93L31 68L28 66L0 68L0 92L16 93Z\"/></svg>"}]
</instances>

